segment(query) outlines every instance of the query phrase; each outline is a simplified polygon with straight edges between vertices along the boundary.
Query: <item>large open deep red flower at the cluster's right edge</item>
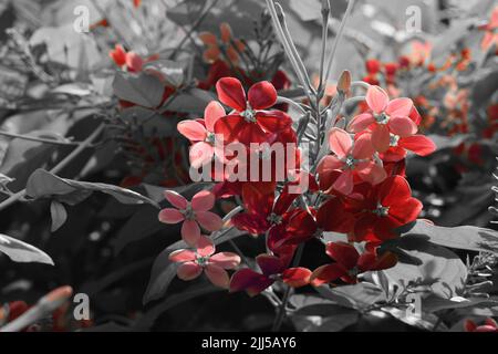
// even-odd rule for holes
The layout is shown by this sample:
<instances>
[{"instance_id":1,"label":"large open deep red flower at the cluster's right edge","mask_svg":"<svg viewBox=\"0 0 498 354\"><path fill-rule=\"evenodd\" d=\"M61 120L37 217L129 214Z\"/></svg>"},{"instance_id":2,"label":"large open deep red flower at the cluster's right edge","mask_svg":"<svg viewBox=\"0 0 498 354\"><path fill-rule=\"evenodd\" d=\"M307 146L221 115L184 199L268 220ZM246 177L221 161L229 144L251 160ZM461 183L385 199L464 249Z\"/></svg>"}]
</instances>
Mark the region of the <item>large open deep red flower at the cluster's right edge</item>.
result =
<instances>
[{"instance_id":1,"label":"large open deep red flower at the cluster's right edge","mask_svg":"<svg viewBox=\"0 0 498 354\"><path fill-rule=\"evenodd\" d=\"M422 210L422 202L412 197L408 183L401 176L388 177L381 185L369 188L365 199L349 202L357 210L356 241L396 238L394 229L415 221Z\"/></svg>"}]
</instances>

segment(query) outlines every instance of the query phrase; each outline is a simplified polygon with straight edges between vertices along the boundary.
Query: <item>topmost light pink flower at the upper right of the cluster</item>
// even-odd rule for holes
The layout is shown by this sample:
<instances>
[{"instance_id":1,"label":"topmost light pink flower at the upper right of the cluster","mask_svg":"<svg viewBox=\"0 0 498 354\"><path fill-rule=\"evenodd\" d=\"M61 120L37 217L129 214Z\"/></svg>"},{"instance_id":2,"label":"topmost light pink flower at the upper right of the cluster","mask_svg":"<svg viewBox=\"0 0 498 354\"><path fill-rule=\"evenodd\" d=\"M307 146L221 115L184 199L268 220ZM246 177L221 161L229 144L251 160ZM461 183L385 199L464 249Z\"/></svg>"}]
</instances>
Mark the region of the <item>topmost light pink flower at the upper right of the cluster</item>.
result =
<instances>
[{"instance_id":1,"label":"topmost light pink flower at the upper right of the cluster","mask_svg":"<svg viewBox=\"0 0 498 354\"><path fill-rule=\"evenodd\" d=\"M352 133L367 128L372 131L372 145L380 153L390 148L391 135L407 137L417 133L416 123L409 118L413 102L409 98L390 101L387 93L378 86L370 86L366 104L371 112L355 116L347 126Z\"/></svg>"}]
</instances>

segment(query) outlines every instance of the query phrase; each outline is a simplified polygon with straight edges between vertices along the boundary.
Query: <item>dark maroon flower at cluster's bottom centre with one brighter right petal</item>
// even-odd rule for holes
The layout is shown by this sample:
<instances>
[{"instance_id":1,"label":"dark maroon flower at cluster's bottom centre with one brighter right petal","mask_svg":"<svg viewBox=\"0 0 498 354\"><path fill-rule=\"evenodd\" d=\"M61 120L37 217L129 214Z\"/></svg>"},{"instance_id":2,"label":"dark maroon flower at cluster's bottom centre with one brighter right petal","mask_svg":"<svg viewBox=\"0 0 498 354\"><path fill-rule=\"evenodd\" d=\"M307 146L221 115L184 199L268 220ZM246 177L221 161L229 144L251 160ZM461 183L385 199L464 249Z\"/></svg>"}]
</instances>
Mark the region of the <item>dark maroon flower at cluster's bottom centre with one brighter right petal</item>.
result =
<instances>
[{"instance_id":1,"label":"dark maroon flower at cluster's bottom centre with one brighter right petal","mask_svg":"<svg viewBox=\"0 0 498 354\"><path fill-rule=\"evenodd\" d=\"M230 281L230 292L245 290L250 296L261 293L276 281L281 280L292 288L304 287L310 282L311 271L307 268L287 268L280 258L270 254L260 254L256 262L261 273L249 268L238 270Z\"/></svg>"}]
</instances>

